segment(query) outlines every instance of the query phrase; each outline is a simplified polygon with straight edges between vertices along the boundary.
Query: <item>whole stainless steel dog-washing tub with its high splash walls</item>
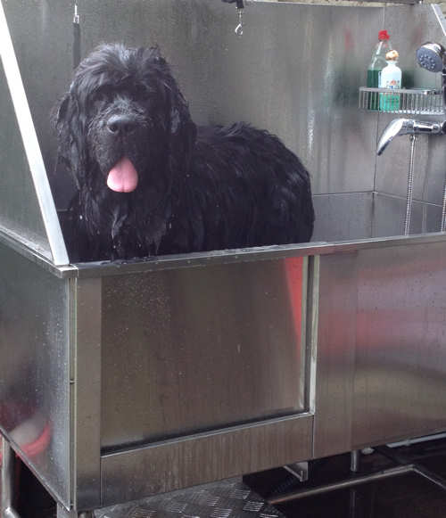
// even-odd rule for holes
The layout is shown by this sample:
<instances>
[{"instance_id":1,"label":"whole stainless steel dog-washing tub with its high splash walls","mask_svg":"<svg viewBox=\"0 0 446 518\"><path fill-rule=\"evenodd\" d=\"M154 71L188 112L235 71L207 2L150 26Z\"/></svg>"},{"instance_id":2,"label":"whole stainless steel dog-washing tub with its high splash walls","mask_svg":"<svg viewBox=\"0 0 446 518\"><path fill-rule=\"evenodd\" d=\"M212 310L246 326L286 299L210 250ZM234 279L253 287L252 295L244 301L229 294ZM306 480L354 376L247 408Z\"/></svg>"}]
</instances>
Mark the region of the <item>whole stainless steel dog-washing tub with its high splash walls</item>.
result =
<instances>
[{"instance_id":1,"label":"whole stainless steel dog-washing tub with its high splash walls","mask_svg":"<svg viewBox=\"0 0 446 518\"><path fill-rule=\"evenodd\" d=\"M314 243L70 264L48 113L73 5L4 2L0 429L57 501L77 513L446 429L446 141L420 142L417 234L401 237L408 144L376 162L389 116L355 109L384 13L411 48L440 30L431 8L256 3L242 39L206 0L78 8L85 52L156 41L194 119L281 136L318 222Z\"/></svg>"}]
</instances>

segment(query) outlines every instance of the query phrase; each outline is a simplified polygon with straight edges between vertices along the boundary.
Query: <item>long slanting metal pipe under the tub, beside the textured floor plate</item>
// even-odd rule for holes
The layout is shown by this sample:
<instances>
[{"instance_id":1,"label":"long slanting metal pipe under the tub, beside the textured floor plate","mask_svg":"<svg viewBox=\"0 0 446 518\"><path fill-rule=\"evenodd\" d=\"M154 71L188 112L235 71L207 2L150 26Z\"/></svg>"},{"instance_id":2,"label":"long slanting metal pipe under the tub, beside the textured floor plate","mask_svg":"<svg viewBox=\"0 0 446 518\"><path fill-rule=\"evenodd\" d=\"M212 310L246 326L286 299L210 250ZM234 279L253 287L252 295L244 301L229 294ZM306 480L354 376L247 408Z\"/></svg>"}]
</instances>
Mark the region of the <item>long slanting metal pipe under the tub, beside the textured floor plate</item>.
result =
<instances>
[{"instance_id":1,"label":"long slanting metal pipe under the tub, beside the textured floor plate","mask_svg":"<svg viewBox=\"0 0 446 518\"><path fill-rule=\"evenodd\" d=\"M336 489L351 488L353 486L359 486L359 484L364 484L366 482L379 481L382 479L393 477L395 475L402 475L404 473L409 473L413 471L414 465L397 466L394 468L383 470L378 473L372 473L369 475L355 477L353 479L348 479L345 481L334 482L333 484L326 484L325 486L319 486L318 488L300 489L297 491L293 491L291 493L287 493L285 495L277 495L276 497L268 498L268 504L284 504L285 502L289 502L290 500L294 500L297 498L313 497L315 495L320 495L321 493L335 491Z\"/></svg>"}]
</instances>

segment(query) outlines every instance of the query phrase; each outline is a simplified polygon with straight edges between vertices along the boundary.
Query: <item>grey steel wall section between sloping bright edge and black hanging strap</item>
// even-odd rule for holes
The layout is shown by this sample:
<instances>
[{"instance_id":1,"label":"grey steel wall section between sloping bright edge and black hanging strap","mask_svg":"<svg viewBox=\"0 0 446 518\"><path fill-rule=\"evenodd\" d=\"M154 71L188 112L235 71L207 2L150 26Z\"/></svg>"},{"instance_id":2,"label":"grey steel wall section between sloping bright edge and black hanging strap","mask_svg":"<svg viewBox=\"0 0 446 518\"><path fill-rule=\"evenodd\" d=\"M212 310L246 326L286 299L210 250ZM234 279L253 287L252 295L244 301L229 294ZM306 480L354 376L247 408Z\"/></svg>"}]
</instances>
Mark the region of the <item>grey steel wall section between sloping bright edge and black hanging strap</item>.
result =
<instances>
[{"instance_id":1,"label":"grey steel wall section between sloping bright edge and black hanging strap","mask_svg":"<svg viewBox=\"0 0 446 518\"><path fill-rule=\"evenodd\" d=\"M56 142L51 127L54 104L70 85L72 72L72 0L4 2L29 109L54 193L67 203L67 178L54 175Z\"/></svg>"}]
</instances>

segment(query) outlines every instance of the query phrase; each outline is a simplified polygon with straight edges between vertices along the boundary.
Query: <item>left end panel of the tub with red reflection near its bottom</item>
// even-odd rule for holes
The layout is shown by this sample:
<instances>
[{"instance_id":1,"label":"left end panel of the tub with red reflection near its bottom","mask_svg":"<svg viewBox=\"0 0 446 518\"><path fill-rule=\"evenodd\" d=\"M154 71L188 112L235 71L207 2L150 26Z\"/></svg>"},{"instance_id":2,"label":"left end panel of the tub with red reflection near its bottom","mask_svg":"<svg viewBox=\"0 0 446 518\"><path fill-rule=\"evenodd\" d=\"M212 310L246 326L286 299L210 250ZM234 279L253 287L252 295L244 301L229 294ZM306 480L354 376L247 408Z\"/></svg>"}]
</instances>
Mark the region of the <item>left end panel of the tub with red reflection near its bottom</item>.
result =
<instances>
[{"instance_id":1,"label":"left end panel of the tub with red reflection near its bottom","mask_svg":"<svg viewBox=\"0 0 446 518\"><path fill-rule=\"evenodd\" d=\"M0 428L69 505L69 281L4 244L0 264Z\"/></svg>"}]
</instances>

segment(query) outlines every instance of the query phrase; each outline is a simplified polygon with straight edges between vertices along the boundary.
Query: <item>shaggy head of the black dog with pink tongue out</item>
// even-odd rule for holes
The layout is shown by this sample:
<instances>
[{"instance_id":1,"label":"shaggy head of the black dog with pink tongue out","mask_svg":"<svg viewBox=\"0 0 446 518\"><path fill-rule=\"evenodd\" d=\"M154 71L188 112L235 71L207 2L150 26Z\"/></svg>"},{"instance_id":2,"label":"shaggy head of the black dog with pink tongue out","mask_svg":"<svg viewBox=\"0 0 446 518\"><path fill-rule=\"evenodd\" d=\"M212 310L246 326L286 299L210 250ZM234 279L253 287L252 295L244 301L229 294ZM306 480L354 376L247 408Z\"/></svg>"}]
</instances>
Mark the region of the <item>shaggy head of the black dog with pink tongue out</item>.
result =
<instances>
[{"instance_id":1,"label":"shaggy head of the black dog with pink tongue out","mask_svg":"<svg viewBox=\"0 0 446 518\"><path fill-rule=\"evenodd\" d=\"M188 169L196 128L157 48L102 45L55 112L59 157L79 189L128 193Z\"/></svg>"}]
</instances>

